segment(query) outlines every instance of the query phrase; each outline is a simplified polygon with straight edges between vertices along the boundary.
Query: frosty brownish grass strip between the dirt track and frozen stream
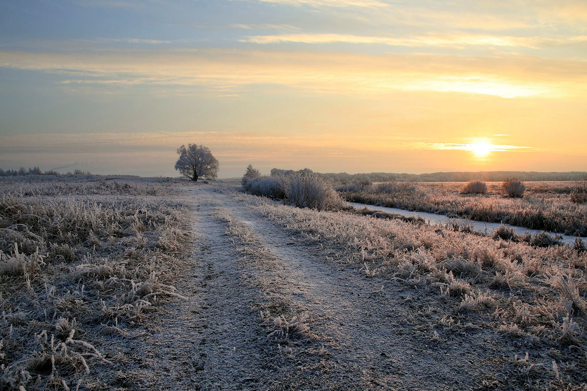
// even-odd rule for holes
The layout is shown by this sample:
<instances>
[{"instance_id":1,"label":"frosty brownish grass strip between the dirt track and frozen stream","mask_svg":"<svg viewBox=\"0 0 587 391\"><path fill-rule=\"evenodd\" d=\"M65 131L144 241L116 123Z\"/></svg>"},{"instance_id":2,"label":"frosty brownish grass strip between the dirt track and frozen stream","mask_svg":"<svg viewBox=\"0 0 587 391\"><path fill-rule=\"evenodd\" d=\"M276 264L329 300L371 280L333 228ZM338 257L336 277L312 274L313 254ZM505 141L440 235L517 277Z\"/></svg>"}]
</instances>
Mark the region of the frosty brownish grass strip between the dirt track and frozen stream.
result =
<instances>
[{"instance_id":1,"label":"frosty brownish grass strip between the dirt track and frozen stream","mask_svg":"<svg viewBox=\"0 0 587 391\"><path fill-rule=\"evenodd\" d=\"M244 199L306 242L334 250L337 263L444 302L444 315L437 323L419 329L426 329L433 341L441 342L458 330L492 329L528 349L530 358L520 356L512 362L534 368L521 375L532 389L586 386L584 251L532 247L418 222ZM549 380L533 382L537 378Z\"/></svg>"}]
</instances>

